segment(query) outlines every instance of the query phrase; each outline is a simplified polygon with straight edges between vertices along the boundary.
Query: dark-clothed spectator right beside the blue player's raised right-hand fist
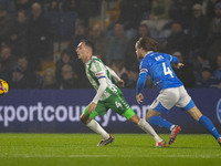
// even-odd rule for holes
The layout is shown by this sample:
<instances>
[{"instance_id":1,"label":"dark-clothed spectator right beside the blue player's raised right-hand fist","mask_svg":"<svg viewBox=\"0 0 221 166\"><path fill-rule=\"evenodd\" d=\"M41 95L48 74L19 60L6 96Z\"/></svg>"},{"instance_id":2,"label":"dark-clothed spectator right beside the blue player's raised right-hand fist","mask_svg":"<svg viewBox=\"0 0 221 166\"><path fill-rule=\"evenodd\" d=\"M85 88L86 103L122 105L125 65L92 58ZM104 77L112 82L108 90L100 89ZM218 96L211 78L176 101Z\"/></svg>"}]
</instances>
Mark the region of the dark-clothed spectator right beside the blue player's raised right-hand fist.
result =
<instances>
[{"instance_id":1,"label":"dark-clothed spectator right beside the blue player's raised right-hand fist","mask_svg":"<svg viewBox=\"0 0 221 166\"><path fill-rule=\"evenodd\" d=\"M178 79L186 87L194 87L196 79L191 65L183 61L181 52L176 51L172 55L175 55L179 62L185 64L181 69L173 68Z\"/></svg>"}]
</instances>

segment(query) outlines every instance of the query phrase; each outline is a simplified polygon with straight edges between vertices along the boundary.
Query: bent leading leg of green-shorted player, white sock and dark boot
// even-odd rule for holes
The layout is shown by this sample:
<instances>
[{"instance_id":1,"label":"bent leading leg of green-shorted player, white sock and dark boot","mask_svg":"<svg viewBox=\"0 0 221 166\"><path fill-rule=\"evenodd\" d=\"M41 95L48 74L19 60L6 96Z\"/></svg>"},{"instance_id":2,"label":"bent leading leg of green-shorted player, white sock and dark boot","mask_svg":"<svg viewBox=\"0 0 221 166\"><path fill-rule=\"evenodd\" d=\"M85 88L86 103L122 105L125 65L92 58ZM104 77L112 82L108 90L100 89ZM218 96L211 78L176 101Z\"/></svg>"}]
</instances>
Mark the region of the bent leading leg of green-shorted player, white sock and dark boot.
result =
<instances>
[{"instance_id":1,"label":"bent leading leg of green-shorted player, white sock and dark boot","mask_svg":"<svg viewBox=\"0 0 221 166\"><path fill-rule=\"evenodd\" d=\"M88 106L87 106L88 107ZM98 102L96 110L94 112L92 112L91 114L87 113L87 107L85 108L85 111L83 112L83 114L81 115L80 120L83 124L85 124L88 128L91 128L92 131L94 131L95 133L99 134L103 139L97 144L97 146L105 146L108 143L112 143L114 141L114 136L109 135L95 120L94 117L103 114L97 112L97 110L102 110L103 106L102 104ZM104 108L106 110L106 108Z\"/></svg>"}]
</instances>

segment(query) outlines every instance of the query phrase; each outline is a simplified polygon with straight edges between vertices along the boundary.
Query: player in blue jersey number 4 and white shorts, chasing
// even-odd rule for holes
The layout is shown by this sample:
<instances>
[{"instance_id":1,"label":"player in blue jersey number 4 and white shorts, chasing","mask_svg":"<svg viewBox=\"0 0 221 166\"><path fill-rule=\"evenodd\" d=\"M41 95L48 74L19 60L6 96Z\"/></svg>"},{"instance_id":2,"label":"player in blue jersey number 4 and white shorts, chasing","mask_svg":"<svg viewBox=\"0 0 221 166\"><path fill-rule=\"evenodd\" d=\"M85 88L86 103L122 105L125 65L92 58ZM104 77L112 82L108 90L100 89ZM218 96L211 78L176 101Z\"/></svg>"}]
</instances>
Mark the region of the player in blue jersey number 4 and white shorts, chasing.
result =
<instances>
[{"instance_id":1,"label":"player in blue jersey number 4 and white shorts, chasing","mask_svg":"<svg viewBox=\"0 0 221 166\"><path fill-rule=\"evenodd\" d=\"M221 137L212 122L198 110L193 101L187 93L182 82L176 76L170 63L176 68L183 64L178 62L176 56L157 52L157 42L151 38L140 38L136 42L137 59L139 64L139 79L136 87L136 100L140 104L144 100L141 90L145 86L147 75L151 77L157 89L160 91L158 97L150 105L146 120L151 125L157 125L171 131L168 144L171 145L176 141L177 134L181 131L180 126L171 124L160 117L161 113L169 113L172 106L181 107L182 111L189 113L193 120L199 122L221 146Z\"/></svg>"}]
</instances>

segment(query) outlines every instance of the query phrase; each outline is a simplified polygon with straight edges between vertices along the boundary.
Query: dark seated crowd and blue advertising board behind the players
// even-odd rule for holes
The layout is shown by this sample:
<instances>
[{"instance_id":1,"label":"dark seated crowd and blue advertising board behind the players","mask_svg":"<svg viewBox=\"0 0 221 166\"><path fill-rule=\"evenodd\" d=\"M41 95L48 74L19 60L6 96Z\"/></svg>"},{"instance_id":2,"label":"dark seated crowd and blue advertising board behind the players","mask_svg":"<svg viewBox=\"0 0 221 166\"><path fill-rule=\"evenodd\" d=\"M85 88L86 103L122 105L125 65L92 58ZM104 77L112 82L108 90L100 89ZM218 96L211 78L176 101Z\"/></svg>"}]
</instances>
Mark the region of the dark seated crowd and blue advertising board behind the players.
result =
<instances>
[{"instance_id":1,"label":"dark seated crowd and blue advertising board behind the players","mask_svg":"<svg viewBox=\"0 0 221 166\"><path fill-rule=\"evenodd\" d=\"M77 116L95 94L75 52L82 39L125 80L125 97L144 117L157 91L148 80L145 105L136 103L139 37L185 63L175 72L220 132L220 0L0 0L0 79L10 86L0 97L0 132L90 132ZM109 132L141 132L113 113L97 121ZM183 133L206 133L177 108L165 117Z\"/></svg>"}]
</instances>

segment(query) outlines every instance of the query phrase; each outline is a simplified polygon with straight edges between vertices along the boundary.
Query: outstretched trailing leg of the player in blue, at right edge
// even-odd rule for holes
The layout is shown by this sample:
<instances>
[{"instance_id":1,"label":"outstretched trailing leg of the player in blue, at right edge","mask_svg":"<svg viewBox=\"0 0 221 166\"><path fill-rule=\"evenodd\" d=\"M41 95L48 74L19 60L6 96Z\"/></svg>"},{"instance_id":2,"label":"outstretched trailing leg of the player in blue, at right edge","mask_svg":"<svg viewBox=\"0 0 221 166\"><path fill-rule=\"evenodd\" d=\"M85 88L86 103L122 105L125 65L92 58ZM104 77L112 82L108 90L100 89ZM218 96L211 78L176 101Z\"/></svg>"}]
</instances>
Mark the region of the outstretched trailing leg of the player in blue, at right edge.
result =
<instances>
[{"instance_id":1,"label":"outstretched trailing leg of the player in blue, at right edge","mask_svg":"<svg viewBox=\"0 0 221 166\"><path fill-rule=\"evenodd\" d=\"M180 87L181 100L178 102L178 106L182 107L183 111L188 112L193 120L199 122L212 136L218 141L221 146L221 137L217 128L206 115L203 115L198 107L194 105L194 102L191 100L183 86Z\"/></svg>"}]
</instances>

